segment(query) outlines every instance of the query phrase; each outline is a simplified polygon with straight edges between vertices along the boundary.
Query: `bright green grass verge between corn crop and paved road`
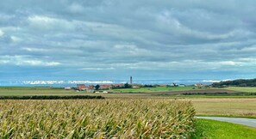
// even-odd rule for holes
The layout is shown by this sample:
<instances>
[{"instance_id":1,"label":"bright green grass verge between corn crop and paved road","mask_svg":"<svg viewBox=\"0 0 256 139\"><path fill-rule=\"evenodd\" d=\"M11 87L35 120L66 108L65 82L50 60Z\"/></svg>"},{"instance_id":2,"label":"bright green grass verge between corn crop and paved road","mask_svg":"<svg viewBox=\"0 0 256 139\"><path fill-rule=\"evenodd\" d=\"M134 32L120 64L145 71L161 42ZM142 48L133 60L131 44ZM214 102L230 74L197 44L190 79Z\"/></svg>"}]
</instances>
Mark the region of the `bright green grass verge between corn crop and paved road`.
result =
<instances>
[{"instance_id":1,"label":"bright green grass verge between corn crop and paved road","mask_svg":"<svg viewBox=\"0 0 256 139\"><path fill-rule=\"evenodd\" d=\"M256 129L240 124L231 124L209 119L197 119L193 139L255 139Z\"/></svg>"}]
</instances>

